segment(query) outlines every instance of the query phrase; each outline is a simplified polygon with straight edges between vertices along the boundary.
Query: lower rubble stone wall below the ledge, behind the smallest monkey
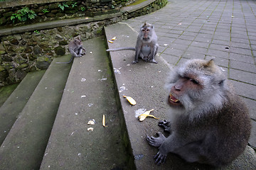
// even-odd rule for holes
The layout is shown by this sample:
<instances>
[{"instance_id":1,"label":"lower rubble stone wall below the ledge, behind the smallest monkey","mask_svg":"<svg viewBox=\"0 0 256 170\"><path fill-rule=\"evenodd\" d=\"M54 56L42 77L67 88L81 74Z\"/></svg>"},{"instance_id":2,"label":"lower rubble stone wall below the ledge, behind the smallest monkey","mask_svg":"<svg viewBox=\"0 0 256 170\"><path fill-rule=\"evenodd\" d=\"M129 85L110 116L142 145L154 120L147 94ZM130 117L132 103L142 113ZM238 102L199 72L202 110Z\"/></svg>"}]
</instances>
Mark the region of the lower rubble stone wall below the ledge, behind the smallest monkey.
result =
<instances>
[{"instance_id":1,"label":"lower rubble stone wall below the ledge, behind the smallest monkey","mask_svg":"<svg viewBox=\"0 0 256 170\"><path fill-rule=\"evenodd\" d=\"M109 0L87 1L102 1L103 3ZM119 1L120 4L122 1ZM81 4L82 2L84 1L81 1ZM114 2L116 3L116 1ZM139 8L138 10L122 12L119 16L111 18L102 16L101 20L83 23L77 26L63 26L46 30L34 30L26 33L0 35L0 86L15 84L21 81L28 72L47 69L53 57L69 54L68 42L75 36L80 35L82 40L95 38L102 35L102 28L104 26L117 23L127 18L151 13L163 7L166 3L167 0L152 1L151 4ZM33 6L36 5L38 4L33 4ZM38 5L38 8L40 8L40 5ZM91 9L92 12L99 12L96 7ZM53 13L53 11L50 13ZM57 16L57 13L55 16Z\"/></svg>"}]
</instances>

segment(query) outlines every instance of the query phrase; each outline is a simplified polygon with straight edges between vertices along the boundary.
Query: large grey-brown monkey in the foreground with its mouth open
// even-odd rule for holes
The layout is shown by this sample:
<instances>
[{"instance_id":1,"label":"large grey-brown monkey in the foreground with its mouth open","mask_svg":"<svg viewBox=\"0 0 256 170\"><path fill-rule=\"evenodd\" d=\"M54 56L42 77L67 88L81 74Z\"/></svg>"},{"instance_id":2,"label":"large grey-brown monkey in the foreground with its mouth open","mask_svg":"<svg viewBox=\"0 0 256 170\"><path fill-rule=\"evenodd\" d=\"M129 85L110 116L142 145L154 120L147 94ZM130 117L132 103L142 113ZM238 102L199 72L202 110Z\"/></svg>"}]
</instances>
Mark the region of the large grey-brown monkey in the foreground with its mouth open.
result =
<instances>
[{"instance_id":1,"label":"large grey-brown monkey in the foreground with its mouth open","mask_svg":"<svg viewBox=\"0 0 256 170\"><path fill-rule=\"evenodd\" d=\"M250 116L213 60L188 60L171 73L166 87L171 121L159 126L170 135L146 135L149 145L159 149L156 164L164 163L169 152L212 166L230 164L242 154L250 137Z\"/></svg>"}]
</instances>

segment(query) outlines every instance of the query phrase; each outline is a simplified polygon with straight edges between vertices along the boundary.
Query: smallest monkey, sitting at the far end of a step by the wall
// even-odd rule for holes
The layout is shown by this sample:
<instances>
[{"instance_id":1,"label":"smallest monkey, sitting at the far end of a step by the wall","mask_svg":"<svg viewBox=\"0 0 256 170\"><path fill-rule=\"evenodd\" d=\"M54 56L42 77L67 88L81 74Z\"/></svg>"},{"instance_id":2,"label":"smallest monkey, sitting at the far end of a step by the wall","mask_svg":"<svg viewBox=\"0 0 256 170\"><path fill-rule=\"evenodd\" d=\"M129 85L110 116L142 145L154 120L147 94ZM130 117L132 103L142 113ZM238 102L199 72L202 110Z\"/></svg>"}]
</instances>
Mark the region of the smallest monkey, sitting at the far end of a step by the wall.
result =
<instances>
[{"instance_id":1,"label":"smallest monkey, sitting at the far end of a step by the wall","mask_svg":"<svg viewBox=\"0 0 256 170\"><path fill-rule=\"evenodd\" d=\"M56 62L57 64L69 64L72 62L74 57L82 57L82 55L85 55L85 52L82 53L82 50L85 51L85 48L82 47L82 40L80 39L80 36L75 37L74 40L71 40L68 44L68 51L71 54L71 59L69 62Z\"/></svg>"}]
</instances>

